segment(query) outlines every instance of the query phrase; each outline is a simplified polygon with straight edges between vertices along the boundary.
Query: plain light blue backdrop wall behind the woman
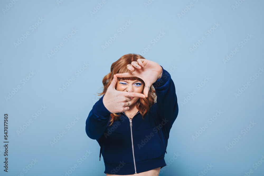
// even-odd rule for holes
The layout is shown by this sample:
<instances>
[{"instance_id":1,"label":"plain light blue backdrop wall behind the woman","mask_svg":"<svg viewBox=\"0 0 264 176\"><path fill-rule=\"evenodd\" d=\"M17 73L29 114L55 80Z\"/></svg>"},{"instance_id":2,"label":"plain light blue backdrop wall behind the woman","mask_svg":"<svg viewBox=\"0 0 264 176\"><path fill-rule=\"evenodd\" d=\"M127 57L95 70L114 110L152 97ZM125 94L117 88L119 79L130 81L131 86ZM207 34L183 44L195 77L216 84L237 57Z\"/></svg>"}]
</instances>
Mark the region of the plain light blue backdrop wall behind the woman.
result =
<instances>
[{"instance_id":1,"label":"plain light blue backdrop wall behind the woman","mask_svg":"<svg viewBox=\"0 0 264 176\"><path fill-rule=\"evenodd\" d=\"M98 100L102 78L110 72L111 64L128 53L142 54L148 45L151 49L143 56L163 66L175 83L179 114L168 140L167 160L172 159L160 175L199 175L208 164L213 165L206 175L251 175L264 173L264 163L257 169L254 163L264 156L263 150L263 79L264 74L252 82L252 75L263 68L264 2L242 1L109 1L93 15L90 11L102 1L11 1L3 0L1 7L1 92L0 131L3 139L3 119L8 113L8 173L3 171L1 149L0 175L65 175L69 167L78 168L70 175L105 175L103 160L99 161L100 147L85 133L85 121ZM193 3L193 6L188 6ZM191 7L187 9L187 7ZM182 13L182 11L186 13ZM184 14L179 18L178 14ZM43 18L34 31L30 26ZM130 20L131 24L120 34L117 30ZM40 22L40 21L39 21ZM218 23L207 36L205 32ZM127 23L128 24L128 23ZM63 38L72 29L77 32L65 42ZM211 29L213 30L213 29ZM30 35L15 47L23 34ZM155 45L151 41L160 31L164 36ZM117 34L106 49L105 41ZM248 34L253 37L241 48L239 42ZM190 47L197 40L205 40L192 53ZM55 45L63 46L48 58ZM231 50L239 51L226 63L223 59ZM144 53L144 52L143 52ZM77 77L75 72L89 64ZM177 68L175 68L177 67ZM22 85L30 72L34 76ZM67 79L75 80L60 92ZM258 76L258 75L257 75ZM211 78L200 90L205 77ZM250 82L240 96L235 96L243 84ZM17 85L21 88L8 94ZM196 90L193 97L187 97ZM13 92L14 93L14 92ZM188 98L186 104L181 104ZM186 102L186 101L185 101ZM47 108L41 112L41 105ZM43 109L42 109L43 110ZM32 118L32 114L41 114ZM217 111L221 115L208 122ZM70 129L75 116L80 118ZM17 130L32 119L21 133ZM251 122L256 123L246 135ZM196 131L208 125L197 139ZM69 130L68 130L69 129ZM53 146L50 141L63 130L63 137ZM200 131L201 132L201 131ZM241 135L242 139L227 150L230 143ZM1 143L2 143L1 142ZM233 142L234 143L234 142ZM0 145L3 146L3 143ZM78 159L91 154L80 164ZM85 157L84 157L85 158ZM32 159L37 163L26 172ZM101 158L102 159L102 158ZM259 162L260 163L260 162ZM205 171L206 172L206 171ZM202 175L200 173L200 175Z\"/></svg>"}]
</instances>

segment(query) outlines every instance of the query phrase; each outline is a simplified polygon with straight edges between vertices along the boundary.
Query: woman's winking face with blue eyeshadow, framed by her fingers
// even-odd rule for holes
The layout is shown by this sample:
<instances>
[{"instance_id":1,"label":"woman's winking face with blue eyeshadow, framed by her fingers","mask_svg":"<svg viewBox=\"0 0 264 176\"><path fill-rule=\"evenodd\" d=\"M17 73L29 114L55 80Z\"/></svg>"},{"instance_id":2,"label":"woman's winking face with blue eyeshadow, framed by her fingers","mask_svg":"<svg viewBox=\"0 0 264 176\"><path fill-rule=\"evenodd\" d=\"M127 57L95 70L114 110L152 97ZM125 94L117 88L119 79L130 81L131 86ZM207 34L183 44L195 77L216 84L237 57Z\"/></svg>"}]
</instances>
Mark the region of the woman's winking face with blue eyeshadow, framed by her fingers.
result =
<instances>
[{"instance_id":1,"label":"woman's winking face with blue eyeshadow, framed by her fingers","mask_svg":"<svg viewBox=\"0 0 264 176\"><path fill-rule=\"evenodd\" d=\"M136 92L136 93L142 93L143 91L143 83L139 80L117 80L117 91L125 91L125 92ZM135 104L139 97L130 97L131 98L131 105ZM131 106L130 105L130 106Z\"/></svg>"}]
</instances>

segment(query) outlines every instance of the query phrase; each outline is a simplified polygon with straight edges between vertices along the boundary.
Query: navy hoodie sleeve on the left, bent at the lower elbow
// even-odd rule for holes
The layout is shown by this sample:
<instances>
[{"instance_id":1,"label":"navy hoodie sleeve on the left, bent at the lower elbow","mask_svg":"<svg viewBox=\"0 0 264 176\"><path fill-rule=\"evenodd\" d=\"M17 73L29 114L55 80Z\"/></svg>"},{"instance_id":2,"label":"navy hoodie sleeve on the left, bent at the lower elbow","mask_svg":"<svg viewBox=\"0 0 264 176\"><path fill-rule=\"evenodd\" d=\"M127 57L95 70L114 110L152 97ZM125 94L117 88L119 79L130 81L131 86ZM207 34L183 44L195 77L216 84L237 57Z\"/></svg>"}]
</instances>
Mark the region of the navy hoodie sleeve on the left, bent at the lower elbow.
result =
<instances>
[{"instance_id":1,"label":"navy hoodie sleeve on the left, bent at the lower elbow","mask_svg":"<svg viewBox=\"0 0 264 176\"><path fill-rule=\"evenodd\" d=\"M93 105L86 120L86 134L91 139L99 139L103 135L110 120L111 112L103 104L103 97L104 95Z\"/></svg>"}]
</instances>

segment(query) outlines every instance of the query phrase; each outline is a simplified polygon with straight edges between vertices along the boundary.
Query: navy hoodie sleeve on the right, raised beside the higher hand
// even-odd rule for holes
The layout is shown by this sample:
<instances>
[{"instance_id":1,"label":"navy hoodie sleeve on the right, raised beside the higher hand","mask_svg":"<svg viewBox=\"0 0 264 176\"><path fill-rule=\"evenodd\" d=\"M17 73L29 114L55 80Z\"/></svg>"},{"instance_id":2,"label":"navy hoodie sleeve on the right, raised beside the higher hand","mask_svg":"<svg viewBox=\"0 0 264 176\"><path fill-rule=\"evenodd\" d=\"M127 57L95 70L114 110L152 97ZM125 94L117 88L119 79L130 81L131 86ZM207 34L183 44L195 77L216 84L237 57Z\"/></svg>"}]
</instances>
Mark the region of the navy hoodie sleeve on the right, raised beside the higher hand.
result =
<instances>
[{"instance_id":1,"label":"navy hoodie sleeve on the right, raised beside the higher hand","mask_svg":"<svg viewBox=\"0 0 264 176\"><path fill-rule=\"evenodd\" d=\"M153 86L157 95L156 109L159 121L162 125L165 123L164 126L171 129L178 116L178 103L171 75L163 67L161 78L153 83Z\"/></svg>"}]
</instances>

